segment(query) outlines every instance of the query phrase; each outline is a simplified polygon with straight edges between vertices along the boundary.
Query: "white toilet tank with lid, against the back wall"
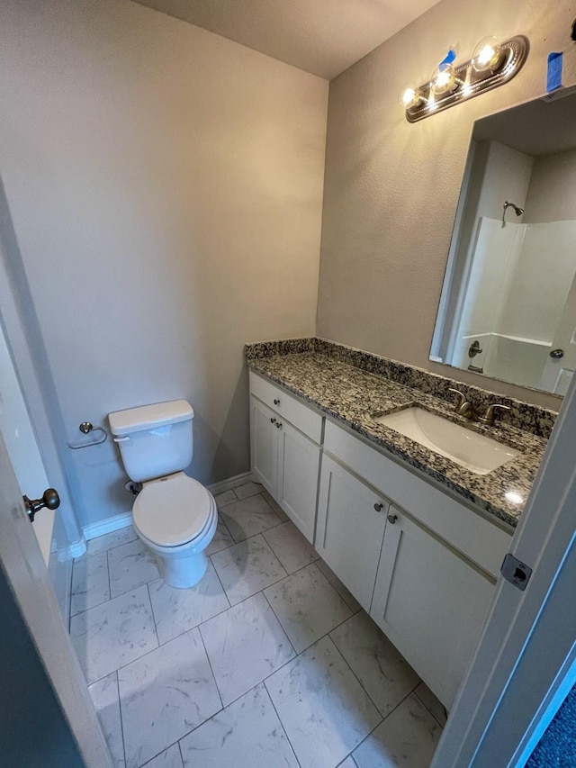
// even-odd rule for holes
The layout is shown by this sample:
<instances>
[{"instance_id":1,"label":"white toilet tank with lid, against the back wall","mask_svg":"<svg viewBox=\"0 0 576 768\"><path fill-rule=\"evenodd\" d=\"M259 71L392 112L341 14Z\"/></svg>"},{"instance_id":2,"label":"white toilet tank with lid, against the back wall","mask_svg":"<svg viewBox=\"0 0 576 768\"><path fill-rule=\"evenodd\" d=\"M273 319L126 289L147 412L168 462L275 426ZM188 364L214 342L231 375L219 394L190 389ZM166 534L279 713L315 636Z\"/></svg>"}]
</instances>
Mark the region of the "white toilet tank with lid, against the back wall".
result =
<instances>
[{"instance_id":1,"label":"white toilet tank with lid, against the back wall","mask_svg":"<svg viewBox=\"0 0 576 768\"><path fill-rule=\"evenodd\" d=\"M192 461L194 411L173 400L108 414L126 474L136 483L185 469Z\"/></svg>"}]
</instances>

